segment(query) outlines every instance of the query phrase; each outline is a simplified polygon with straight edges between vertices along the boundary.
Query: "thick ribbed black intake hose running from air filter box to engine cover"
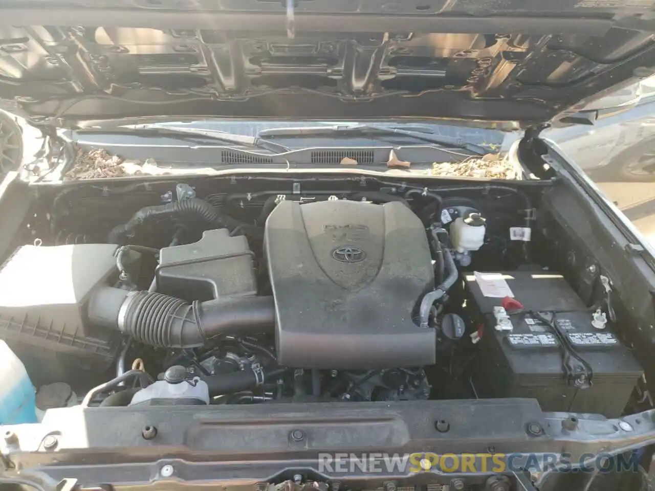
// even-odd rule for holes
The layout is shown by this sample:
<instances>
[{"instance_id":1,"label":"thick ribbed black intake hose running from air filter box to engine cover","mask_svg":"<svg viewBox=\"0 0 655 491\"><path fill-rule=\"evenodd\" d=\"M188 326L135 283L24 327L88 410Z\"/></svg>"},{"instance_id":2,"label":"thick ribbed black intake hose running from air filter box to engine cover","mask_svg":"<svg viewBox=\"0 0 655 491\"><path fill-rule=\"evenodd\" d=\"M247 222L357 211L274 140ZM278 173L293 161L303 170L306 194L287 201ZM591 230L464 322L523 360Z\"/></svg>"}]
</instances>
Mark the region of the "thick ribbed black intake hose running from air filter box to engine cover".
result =
<instances>
[{"instance_id":1,"label":"thick ribbed black intake hose running from air filter box to engine cover","mask_svg":"<svg viewBox=\"0 0 655 491\"><path fill-rule=\"evenodd\" d=\"M216 335L267 333L274 327L272 297L244 297L189 303L148 291L103 287L90 299L88 317L163 348L196 348Z\"/></svg>"}]
</instances>

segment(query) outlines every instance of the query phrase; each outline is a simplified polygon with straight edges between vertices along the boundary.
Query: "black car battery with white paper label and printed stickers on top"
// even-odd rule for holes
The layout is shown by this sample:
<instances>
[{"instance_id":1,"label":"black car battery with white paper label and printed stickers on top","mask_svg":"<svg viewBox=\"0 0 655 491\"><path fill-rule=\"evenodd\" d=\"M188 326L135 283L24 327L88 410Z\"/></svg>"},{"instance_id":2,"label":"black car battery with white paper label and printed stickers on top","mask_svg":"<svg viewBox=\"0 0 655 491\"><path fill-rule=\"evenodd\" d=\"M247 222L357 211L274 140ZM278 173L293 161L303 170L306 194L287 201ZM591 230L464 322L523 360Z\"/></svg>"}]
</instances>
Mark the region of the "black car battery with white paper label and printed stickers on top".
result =
<instances>
[{"instance_id":1,"label":"black car battery with white paper label and printed stickers on top","mask_svg":"<svg viewBox=\"0 0 655 491\"><path fill-rule=\"evenodd\" d=\"M481 334L472 373L477 396L528 397L537 399L544 411L620 416L643 370L612 332L610 323L604 329L594 327L593 312L559 274L512 271L489 275L466 276L467 306ZM523 309L510 312L504 321L511 325L499 330L494 308L502 306L506 295L521 302ZM565 343L553 333L553 327L588 363L590 386L576 387L565 375Z\"/></svg>"}]
</instances>

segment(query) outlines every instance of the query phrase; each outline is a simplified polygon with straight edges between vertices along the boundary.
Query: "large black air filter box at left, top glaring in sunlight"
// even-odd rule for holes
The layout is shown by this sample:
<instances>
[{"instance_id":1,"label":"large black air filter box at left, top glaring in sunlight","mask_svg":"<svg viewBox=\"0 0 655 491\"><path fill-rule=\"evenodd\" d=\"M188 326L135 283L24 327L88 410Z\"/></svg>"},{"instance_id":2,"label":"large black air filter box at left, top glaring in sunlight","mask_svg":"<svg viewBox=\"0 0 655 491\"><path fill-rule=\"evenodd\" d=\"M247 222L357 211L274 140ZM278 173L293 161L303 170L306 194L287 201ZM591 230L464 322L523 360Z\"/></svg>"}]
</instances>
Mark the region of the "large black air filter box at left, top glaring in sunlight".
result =
<instances>
[{"instance_id":1,"label":"large black air filter box at left, top glaring in sunlight","mask_svg":"<svg viewBox=\"0 0 655 491\"><path fill-rule=\"evenodd\" d=\"M117 245L24 245L0 268L0 338L35 385L93 380L117 352L115 333L88 325L86 301L118 275Z\"/></svg>"}]
</instances>

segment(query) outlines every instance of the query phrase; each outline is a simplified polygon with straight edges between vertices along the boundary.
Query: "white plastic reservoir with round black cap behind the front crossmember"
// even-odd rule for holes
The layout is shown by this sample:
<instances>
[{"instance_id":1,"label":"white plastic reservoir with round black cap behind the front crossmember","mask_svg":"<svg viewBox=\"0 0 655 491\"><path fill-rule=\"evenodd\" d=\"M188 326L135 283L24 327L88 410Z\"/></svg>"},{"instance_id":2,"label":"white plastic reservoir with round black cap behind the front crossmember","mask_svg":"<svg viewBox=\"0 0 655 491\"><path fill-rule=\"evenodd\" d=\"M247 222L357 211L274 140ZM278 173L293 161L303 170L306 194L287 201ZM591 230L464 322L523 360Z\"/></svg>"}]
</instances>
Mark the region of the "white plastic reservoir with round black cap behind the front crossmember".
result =
<instances>
[{"instance_id":1,"label":"white plastic reservoir with round black cap behind the front crossmember","mask_svg":"<svg viewBox=\"0 0 655 491\"><path fill-rule=\"evenodd\" d=\"M134 394L130 406L155 405L162 400L167 404L209 404L209 387L204 380L189 377L185 367L174 365L166 370L164 380L157 380Z\"/></svg>"}]
</instances>

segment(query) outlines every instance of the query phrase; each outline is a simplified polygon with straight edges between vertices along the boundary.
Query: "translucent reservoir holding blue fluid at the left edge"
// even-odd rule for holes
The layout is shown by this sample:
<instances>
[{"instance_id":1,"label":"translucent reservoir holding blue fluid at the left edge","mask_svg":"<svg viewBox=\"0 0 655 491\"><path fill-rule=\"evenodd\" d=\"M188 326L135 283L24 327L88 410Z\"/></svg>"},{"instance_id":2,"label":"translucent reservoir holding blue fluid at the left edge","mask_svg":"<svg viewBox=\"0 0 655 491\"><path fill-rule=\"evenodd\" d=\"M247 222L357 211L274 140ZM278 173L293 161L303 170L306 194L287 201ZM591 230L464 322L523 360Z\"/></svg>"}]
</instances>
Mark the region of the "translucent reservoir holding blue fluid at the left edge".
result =
<instances>
[{"instance_id":1,"label":"translucent reservoir holding blue fluid at the left edge","mask_svg":"<svg viewBox=\"0 0 655 491\"><path fill-rule=\"evenodd\" d=\"M0 424L35 423L34 387L22 361L0 340Z\"/></svg>"}]
</instances>

